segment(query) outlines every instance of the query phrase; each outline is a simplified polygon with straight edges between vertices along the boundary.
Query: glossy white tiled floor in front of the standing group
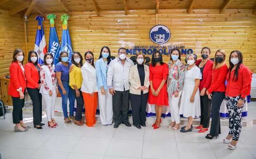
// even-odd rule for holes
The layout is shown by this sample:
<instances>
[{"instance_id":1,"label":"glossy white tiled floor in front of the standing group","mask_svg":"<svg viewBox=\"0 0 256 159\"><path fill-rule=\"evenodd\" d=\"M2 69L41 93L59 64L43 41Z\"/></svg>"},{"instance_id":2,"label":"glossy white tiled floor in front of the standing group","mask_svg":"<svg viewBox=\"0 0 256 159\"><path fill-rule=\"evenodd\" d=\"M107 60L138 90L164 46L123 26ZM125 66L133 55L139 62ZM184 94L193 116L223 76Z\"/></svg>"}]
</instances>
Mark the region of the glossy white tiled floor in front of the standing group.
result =
<instances>
[{"instance_id":1,"label":"glossy white tiled floor in front of the standing group","mask_svg":"<svg viewBox=\"0 0 256 159\"><path fill-rule=\"evenodd\" d=\"M254 112L255 113L255 112ZM32 126L31 115L24 115ZM218 139L207 140L208 133L172 131L166 125L153 130L151 125L141 130L120 125L88 128L66 125L56 117L55 129L43 126L25 133L14 133L12 115L0 117L0 153L2 159L255 159L256 125L242 129L236 150L221 142L228 133L222 126ZM43 118L46 122L46 117Z\"/></svg>"}]
</instances>

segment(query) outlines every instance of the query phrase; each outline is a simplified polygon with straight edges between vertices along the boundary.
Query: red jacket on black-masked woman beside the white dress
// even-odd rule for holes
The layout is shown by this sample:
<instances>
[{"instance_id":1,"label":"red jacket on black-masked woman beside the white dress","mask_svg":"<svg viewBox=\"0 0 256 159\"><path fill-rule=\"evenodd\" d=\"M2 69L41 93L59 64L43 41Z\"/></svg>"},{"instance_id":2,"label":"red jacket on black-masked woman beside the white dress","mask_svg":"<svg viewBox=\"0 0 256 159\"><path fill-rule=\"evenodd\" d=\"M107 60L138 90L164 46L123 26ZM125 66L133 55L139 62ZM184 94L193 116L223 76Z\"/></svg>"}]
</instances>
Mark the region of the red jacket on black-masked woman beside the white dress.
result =
<instances>
[{"instance_id":1,"label":"red jacket on black-masked woman beside the white dress","mask_svg":"<svg viewBox=\"0 0 256 159\"><path fill-rule=\"evenodd\" d=\"M197 60L196 65L198 66L201 61L202 61L201 59ZM208 89L210 87L212 68L213 68L213 61L208 60L204 65L204 70L202 75L203 79L200 80L199 91L201 91L203 88Z\"/></svg>"}]
</instances>

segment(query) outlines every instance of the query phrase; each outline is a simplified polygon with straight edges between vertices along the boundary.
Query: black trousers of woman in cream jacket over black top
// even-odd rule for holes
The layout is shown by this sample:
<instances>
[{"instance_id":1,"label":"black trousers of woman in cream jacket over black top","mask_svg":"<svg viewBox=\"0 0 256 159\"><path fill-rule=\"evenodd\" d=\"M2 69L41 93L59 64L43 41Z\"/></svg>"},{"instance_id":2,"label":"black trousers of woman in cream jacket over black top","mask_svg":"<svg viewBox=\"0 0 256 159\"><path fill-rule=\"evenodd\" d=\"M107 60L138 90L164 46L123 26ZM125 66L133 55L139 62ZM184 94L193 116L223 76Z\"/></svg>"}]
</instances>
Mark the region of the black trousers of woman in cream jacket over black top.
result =
<instances>
[{"instance_id":1,"label":"black trousers of woman in cream jacket over black top","mask_svg":"<svg viewBox=\"0 0 256 159\"><path fill-rule=\"evenodd\" d=\"M147 94L130 94L130 103L133 111L133 125L145 125L146 122L146 107Z\"/></svg>"}]
</instances>

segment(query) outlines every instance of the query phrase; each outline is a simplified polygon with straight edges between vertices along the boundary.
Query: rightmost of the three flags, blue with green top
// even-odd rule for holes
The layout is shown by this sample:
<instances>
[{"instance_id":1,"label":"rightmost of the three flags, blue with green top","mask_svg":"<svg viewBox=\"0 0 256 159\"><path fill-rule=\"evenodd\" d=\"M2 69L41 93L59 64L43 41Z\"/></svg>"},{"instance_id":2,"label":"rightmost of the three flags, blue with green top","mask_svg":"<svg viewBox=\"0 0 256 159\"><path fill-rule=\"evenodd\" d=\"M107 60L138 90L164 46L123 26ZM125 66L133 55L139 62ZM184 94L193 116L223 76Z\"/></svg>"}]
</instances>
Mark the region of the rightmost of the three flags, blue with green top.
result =
<instances>
[{"instance_id":1,"label":"rightmost of the three flags, blue with green top","mask_svg":"<svg viewBox=\"0 0 256 159\"><path fill-rule=\"evenodd\" d=\"M62 21L62 45L61 45L61 51L66 51L69 54L69 63L71 62L71 55L73 54L72 51L72 45L71 45L71 40L69 37L69 29L68 29L68 20L69 16L66 14L63 14L60 18Z\"/></svg>"}]
</instances>

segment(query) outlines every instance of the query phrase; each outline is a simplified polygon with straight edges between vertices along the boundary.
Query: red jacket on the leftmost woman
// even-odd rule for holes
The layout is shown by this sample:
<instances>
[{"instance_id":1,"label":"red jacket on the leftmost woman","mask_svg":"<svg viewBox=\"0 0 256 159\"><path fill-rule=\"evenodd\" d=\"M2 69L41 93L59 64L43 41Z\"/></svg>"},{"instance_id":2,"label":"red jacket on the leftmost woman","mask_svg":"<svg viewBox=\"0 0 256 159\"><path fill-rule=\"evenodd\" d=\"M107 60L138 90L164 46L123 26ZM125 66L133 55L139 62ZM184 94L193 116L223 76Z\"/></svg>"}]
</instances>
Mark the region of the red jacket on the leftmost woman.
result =
<instances>
[{"instance_id":1,"label":"red jacket on the leftmost woman","mask_svg":"<svg viewBox=\"0 0 256 159\"><path fill-rule=\"evenodd\" d=\"M22 88L22 92L25 92L26 79L18 62L12 62L10 65L10 84L8 88L8 94L12 97L20 97L17 89Z\"/></svg>"}]
</instances>

